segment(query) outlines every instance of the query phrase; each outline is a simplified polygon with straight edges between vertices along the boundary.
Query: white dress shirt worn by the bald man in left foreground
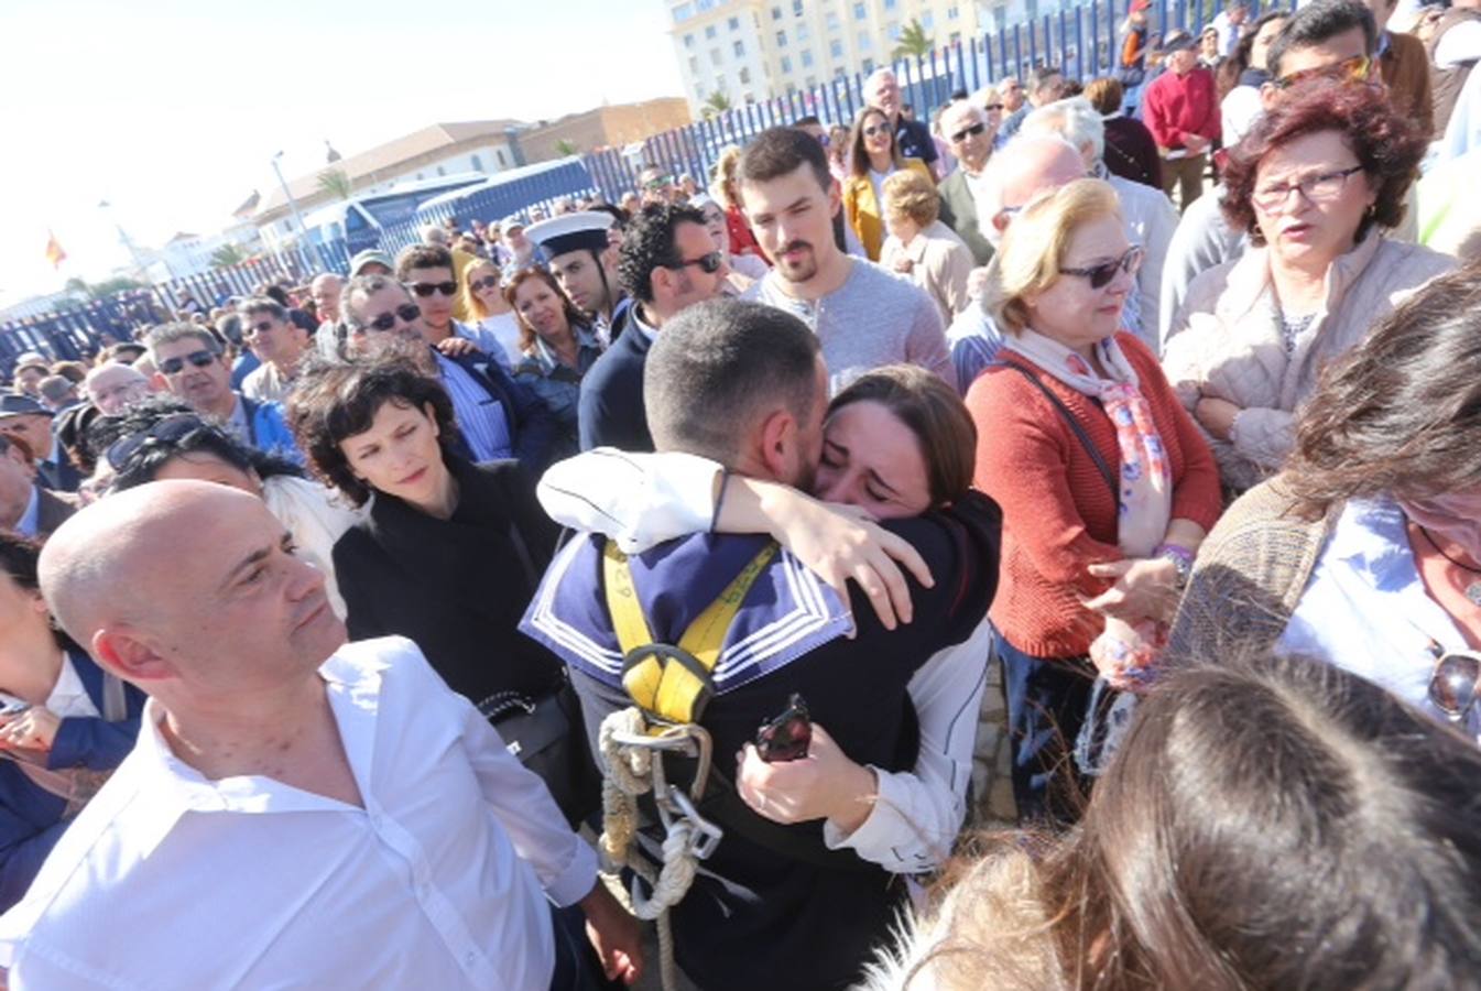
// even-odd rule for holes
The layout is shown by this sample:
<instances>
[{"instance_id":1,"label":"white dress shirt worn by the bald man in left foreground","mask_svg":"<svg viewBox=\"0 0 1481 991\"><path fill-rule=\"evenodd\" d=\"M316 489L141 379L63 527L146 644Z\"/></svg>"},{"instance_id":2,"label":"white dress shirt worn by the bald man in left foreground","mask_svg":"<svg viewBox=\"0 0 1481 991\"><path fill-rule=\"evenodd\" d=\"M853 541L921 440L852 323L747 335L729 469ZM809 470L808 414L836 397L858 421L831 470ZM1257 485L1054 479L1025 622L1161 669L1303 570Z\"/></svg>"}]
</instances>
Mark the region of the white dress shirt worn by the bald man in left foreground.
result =
<instances>
[{"instance_id":1,"label":"white dress shirt worn by the bald man in left foreground","mask_svg":"<svg viewBox=\"0 0 1481 991\"><path fill-rule=\"evenodd\" d=\"M400 637L320 668L364 807L139 744L0 917L12 988L545 991L595 853ZM545 889L542 895L541 889Z\"/></svg>"}]
</instances>

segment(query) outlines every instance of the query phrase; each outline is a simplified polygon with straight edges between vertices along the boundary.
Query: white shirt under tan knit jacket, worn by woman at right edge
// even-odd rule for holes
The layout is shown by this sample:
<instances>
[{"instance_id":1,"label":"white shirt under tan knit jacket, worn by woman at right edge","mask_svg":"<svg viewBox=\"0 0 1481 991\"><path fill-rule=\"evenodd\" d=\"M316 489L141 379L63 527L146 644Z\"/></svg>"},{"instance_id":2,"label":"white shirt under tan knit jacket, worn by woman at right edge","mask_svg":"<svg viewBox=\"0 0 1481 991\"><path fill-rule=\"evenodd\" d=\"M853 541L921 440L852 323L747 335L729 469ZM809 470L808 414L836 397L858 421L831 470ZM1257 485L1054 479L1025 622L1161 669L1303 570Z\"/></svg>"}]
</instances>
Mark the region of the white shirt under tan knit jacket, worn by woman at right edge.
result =
<instances>
[{"instance_id":1,"label":"white shirt under tan knit jacket, worn by woman at right edge","mask_svg":"<svg viewBox=\"0 0 1481 991\"><path fill-rule=\"evenodd\" d=\"M1431 641L1465 650L1450 615L1425 591L1408 542L1404 513L1391 499L1354 499L1337 518L1311 582L1275 644L1345 668L1432 715L1435 670ZM1472 713L1468 735L1481 730Z\"/></svg>"}]
</instances>

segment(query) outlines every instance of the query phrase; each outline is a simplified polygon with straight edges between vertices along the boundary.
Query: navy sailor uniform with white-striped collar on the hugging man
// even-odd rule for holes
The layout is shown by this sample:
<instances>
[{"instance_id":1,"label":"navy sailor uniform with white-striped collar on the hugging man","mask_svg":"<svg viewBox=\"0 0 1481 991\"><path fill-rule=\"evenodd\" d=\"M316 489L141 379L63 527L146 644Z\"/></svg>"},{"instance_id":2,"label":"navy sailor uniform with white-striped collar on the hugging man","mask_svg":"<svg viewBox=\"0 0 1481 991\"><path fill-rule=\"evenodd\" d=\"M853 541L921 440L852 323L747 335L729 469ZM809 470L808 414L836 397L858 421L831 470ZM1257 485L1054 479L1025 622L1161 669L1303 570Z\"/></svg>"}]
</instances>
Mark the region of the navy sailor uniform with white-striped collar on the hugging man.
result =
<instances>
[{"instance_id":1,"label":"navy sailor uniform with white-striped collar on the hugging man","mask_svg":"<svg viewBox=\"0 0 1481 991\"><path fill-rule=\"evenodd\" d=\"M976 505L980 515L972 521L930 514L887 524L936 576L929 590L908 579L914 622L895 631L853 590L857 633L846 638L844 604L785 551L746 593L698 720L714 741L712 778L723 778L701 810L724 838L671 912L678 964L706 991L846 988L887 939L903 884L852 850L829 850L820 821L782 827L751 812L735 795L735 754L797 692L850 758L890 772L914 766L918 726L908 681L933 653L972 634L997 585L1001 517L985 498ZM678 643L766 544L705 533L628 558L655 640ZM567 542L520 625L570 668L594 750L601 721L631 705L606 604L603 548L604 539L591 535Z\"/></svg>"}]
</instances>

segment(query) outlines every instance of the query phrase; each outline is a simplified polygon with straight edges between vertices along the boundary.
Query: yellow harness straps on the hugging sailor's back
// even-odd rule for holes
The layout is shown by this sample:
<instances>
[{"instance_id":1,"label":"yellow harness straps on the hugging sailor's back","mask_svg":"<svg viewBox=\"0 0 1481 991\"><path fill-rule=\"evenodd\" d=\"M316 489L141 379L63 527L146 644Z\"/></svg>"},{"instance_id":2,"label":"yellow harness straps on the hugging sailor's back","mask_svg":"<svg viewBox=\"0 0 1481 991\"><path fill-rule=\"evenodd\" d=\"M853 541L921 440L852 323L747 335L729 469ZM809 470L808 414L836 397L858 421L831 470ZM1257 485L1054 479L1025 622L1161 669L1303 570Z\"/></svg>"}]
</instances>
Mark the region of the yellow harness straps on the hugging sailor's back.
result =
<instances>
[{"instance_id":1,"label":"yellow harness straps on the hugging sailor's back","mask_svg":"<svg viewBox=\"0 0 1481 991\"><path fill-rule=\"evenodd\" d=\"M649 717L669 724L699 721L705 704L714 696L711 674L720 664L720 647L726 633L740 612L740 603L776 554L776 542L767 542L740 573L726 585L678 638L678 646L655 643L643 606L632 587L632 566L628 555L607 541L601 554L606 578L607 612L612 613L618 646L625 655L622 687Z\"/></svg>"}]
</instances>

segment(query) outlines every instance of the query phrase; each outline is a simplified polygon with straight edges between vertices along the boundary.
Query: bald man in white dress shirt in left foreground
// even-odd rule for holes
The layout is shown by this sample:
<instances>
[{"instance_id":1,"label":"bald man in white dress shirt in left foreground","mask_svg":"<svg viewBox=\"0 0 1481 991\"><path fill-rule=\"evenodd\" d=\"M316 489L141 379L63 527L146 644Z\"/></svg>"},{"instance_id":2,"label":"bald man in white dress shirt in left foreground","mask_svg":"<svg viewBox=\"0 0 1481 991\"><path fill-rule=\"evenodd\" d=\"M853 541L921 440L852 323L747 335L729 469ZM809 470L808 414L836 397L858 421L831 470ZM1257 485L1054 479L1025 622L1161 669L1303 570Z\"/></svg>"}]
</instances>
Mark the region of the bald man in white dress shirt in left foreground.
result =
<instances>
[{"instance_id":1,"label":"bald man in white dress shirt in left foreground","mask_svg":"<svg viewBox=\"0 0 1481 991\"><path fill-rule=\"evenodd\" d=\"M416 644L345 644L261 499L150 483L73 517L39 570L150 701L0 918L12 987L575 991L591 950L638 978L637 924L544 782Z\"/></svg>"}]
</instances>

